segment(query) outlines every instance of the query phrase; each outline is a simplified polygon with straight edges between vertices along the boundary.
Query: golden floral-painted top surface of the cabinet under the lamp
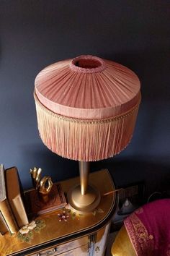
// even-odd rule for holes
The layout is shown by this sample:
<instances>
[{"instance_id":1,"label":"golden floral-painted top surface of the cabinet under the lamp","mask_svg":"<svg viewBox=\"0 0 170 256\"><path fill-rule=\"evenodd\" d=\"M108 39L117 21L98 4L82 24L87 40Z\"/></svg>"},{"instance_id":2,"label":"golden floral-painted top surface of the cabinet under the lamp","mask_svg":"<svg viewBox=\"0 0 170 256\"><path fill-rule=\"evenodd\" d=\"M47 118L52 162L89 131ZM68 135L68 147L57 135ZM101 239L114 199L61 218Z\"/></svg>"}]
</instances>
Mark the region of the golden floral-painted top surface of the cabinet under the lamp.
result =
<instances>
[{"instance_id":1,"label":"golden floral-painted top surface of the cabinet under the lamp","mask_svg":"<svg viewBox=\"0 0 170 256\"><path fill-rule=\"evenodd\" d=\"M77 183L79 183L79 177L60 182L64 192L67 192L70 187ZM89 174L89 184L94 184L101 193L101 201L97 209L91 213L80 214L66 205L66 208L38 216L30 221L27 234L18 232L11 236L6 233L0 237L0 255L19 255L19 252L33 252L35 248L61 244L101 229L104 223L112 218L117 201L117 194L113 192L115 185L107 170ZM104 195L106 193L108 195ZM60 221L62 215L66 216L66 221Z\"/></svg>"}]
</instances>

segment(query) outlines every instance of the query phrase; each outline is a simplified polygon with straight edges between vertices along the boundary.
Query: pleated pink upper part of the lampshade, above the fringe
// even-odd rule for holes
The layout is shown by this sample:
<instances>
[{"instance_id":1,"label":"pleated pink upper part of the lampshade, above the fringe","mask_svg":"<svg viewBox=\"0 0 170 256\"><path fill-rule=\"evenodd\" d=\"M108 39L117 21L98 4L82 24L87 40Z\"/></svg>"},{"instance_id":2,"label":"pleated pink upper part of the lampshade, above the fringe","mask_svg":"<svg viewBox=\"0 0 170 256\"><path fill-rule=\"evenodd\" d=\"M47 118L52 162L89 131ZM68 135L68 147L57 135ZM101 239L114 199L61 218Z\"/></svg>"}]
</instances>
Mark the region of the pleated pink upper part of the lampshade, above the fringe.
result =
<instances>
[{"instance_id":1,"label":"pleated pink upper part of the lampshade, above the fringe","mask_svg":"<svg viewBox=\"0 0 170 256\"><path fill-rule=\"evenodd\" d=\"M78 56L51 64L37 74L35 93L55 114L106 119L135 106L138 76L127 67L97 56Z\"/></svg>"}]
</instances>

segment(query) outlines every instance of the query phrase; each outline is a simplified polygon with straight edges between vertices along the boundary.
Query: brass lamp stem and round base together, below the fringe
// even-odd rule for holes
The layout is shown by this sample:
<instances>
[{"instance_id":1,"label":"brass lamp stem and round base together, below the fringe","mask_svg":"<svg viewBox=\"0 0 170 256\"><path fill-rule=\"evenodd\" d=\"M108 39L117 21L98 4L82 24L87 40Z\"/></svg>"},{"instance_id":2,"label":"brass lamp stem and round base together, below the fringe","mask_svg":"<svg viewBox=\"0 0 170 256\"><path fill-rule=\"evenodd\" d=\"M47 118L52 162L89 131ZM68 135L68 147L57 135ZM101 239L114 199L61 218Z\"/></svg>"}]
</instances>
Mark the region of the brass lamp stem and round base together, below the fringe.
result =
<instances>
[{"instance_id":1,"label":"brass lamp stem and round base together, below the fringe","mask_svg":"<svg viewBox=\"0 0 170 256\"><path fill-rule=\"evenodd\" d=\"M68 202L71 207L81 213L94 210L99 205L101 196L94 186L88 186L89 162L79 162L80 184L68 192Z\"/></svg>"}]
</instances>

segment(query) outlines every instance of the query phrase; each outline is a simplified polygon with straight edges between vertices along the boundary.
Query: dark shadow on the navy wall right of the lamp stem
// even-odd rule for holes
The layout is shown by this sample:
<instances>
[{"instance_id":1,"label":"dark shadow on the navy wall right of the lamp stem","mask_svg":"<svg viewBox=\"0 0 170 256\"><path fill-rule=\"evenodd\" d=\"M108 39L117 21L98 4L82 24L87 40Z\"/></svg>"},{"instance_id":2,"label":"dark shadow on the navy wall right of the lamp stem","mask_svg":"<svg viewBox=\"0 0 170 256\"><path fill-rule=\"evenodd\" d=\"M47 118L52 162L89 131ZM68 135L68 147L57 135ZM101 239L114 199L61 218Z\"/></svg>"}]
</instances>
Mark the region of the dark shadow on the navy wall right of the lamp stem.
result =
<instances>
[{"instance_id":1,"label":"dark shadow on the navy wall right of the lamp stem","mask_svg":"<svg viewBox=\"0 0 170 256\"><path fill-rule=\"evenodd\" d=\"M100 168L109 170L116 187L144 182L146 201L153 192L170 190L170 165L164 164L164 161L158 163L156 160L153 163L149 160L116 157L91 163L93 171Z\"/></svg>"}]
</instances>

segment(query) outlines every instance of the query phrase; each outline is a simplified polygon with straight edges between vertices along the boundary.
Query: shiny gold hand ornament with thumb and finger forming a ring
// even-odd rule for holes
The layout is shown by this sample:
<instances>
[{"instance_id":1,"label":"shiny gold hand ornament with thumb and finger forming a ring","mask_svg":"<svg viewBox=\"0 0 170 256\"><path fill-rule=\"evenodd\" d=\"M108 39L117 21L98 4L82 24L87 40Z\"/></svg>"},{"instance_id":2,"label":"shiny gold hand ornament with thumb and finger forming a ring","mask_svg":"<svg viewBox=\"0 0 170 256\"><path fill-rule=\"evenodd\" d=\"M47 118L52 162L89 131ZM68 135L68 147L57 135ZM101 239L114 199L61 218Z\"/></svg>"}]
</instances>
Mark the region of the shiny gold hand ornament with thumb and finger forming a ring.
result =
<instances>
[{"instance_id":1,"label":"shiny gold hand ornament with thumb and finger forming a ring","mask_svg":"<svg viewBox=\"0 0 170 256\"><path fill-rule=\"evenodd\" d=\"M32 182L40 195L40 200L42 200L42 202L48 202L49 193L53 187L53 182L50 176L44 176L41 179L41 173L42 168L30 168Z\"/></svg>"}]
</instances>

